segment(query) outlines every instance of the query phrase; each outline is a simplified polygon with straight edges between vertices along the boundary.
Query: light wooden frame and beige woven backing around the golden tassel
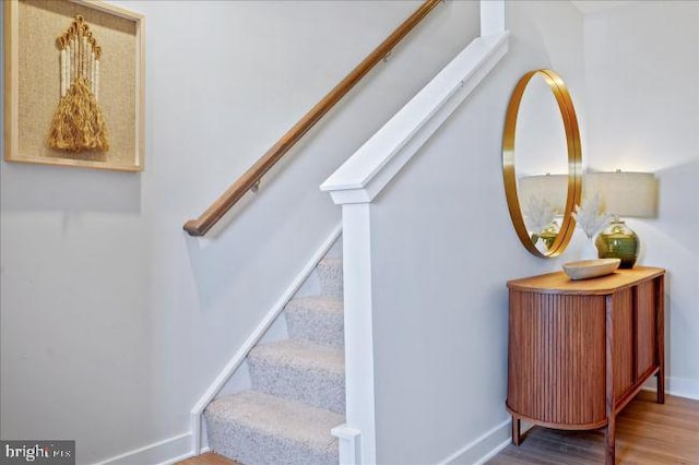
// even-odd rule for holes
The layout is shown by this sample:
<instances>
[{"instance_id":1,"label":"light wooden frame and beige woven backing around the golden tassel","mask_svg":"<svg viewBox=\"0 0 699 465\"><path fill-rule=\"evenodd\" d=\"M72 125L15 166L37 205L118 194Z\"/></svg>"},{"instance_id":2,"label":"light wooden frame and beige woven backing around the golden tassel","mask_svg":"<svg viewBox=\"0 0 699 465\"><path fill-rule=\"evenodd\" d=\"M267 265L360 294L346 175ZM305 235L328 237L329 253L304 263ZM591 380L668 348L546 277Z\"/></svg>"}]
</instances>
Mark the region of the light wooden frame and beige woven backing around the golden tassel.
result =
<instances>
[{"instance_id":1,"label":"light wooden frame and beige woven backing around the golden tassel","mask_svg":"<svg viewBox=\"0 0 699 465\"><path fill-rule=\"evenodd\" d=\"M4 159L142 170L145 145L143 15L94 0L5 0L2 3ZM95 55L93 41L92 56L87 51L87 58L74 59L72 63L80 63L85 76L97 76L92 80L95 84L88 86L94 90L93 107L99 108L100 122L104 122L102 134L108 144L98 148L91 148L94 144L57 148L55 138L49 134L56 133L58 108L63 105L66 88L71 87L70 81L64 84L67 75L70 80L70 71L66 74L62 63L67 60L59 50L59 37L70 31L73 22L83 20L91 40L94 37L99 47ZM74 50L86 49L83 46L86 41L79 44ZM94 71L95 61L98 74ZM70 49L68 63L71 63Z\"/></svg>"}]
</instances>

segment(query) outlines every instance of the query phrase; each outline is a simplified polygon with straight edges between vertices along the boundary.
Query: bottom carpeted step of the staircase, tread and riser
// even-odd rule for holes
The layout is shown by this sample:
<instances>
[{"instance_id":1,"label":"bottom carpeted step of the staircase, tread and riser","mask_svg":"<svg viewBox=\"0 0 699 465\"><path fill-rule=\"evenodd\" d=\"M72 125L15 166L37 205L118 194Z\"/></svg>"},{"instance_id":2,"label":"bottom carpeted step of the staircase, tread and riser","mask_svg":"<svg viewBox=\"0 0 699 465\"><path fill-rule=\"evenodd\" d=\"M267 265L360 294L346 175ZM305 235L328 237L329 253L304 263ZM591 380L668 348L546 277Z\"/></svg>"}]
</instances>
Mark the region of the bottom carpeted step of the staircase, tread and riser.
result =
<instances>
[{"instance_id":1,"label":"bottom carpeted step of the staircase, tread and riser","mask_svg":"<svg viewBox=\"0 0 699 465\"><path fill-rule=\"evenodd\" d=\"M339 462L330 430L345 419L327 409L244 391L212 402L205 418L212 450L245 465Z\"/></svg>"}]
</instances>

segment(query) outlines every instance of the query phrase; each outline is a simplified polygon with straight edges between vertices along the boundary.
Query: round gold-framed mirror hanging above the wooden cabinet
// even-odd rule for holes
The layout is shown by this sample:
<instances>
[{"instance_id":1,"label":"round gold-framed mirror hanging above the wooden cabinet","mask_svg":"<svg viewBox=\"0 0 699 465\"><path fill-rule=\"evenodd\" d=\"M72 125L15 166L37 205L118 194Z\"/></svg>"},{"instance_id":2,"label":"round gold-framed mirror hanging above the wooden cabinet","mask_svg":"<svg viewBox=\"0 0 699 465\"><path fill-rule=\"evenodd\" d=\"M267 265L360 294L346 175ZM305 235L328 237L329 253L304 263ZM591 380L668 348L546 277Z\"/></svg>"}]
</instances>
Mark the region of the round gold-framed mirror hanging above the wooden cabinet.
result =
<instances>
[{"instance_id":1,"label":"round gold-framed mirror hanging above the wooden cabinet","mask_svg":"<svg viewBox=\"0 0 699 465\"><path fill-rule=\"evenodd\" d=\"M536 257L559 255L570 242L581 164L578 118L566 84L552 70L528 72L507 109L502 178L514 230Z\"/></svg>"}]
</instances>

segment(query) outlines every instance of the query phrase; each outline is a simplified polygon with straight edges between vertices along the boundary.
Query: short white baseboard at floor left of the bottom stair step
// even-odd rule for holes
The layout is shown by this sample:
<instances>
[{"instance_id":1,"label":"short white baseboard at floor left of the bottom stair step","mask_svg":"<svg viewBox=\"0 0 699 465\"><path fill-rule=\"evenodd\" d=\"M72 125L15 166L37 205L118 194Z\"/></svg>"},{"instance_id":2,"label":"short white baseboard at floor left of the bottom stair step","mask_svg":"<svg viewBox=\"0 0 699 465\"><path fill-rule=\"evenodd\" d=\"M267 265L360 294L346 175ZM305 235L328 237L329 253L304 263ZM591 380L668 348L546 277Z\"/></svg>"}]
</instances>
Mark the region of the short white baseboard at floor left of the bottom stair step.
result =
<instances>
[{"instance_id":1,"label":"short white baseboard at floor left of the bottom stair step","mask_svg":"<svg viewBox=\"0 0 699 465\"><path fill-rule=\"evenodd\" d=\"M143 448L134 449L121 455L98 462L96 465L133 465L159 464L169 465L180 460L191 457L192 433L174 436L163 441L154 442ZM176 457L176 458L173 458Z\"/></svg>"}]
</instances>

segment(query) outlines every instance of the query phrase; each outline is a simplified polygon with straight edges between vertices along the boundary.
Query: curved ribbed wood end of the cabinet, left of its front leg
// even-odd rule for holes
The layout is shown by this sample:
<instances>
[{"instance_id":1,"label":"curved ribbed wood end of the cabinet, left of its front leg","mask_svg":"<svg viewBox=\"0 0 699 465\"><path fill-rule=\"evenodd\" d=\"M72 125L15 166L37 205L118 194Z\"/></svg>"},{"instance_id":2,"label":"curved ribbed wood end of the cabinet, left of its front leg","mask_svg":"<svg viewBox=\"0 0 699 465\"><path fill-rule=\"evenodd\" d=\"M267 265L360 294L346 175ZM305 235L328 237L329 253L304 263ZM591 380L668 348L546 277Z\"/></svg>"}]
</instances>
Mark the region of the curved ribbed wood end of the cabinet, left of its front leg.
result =
<instances>
[{"instance_id":1,"label":"curved ribbed wood end of the cabinet, left of its front leg","mask_svg":"<svg viewBox=\"0 0 699 465\"><path fill-rule=\"evenodd\" d=\"M604 426L604 297L512 293L508 407L549 426Z\"/></svg>"}]
</instances>

